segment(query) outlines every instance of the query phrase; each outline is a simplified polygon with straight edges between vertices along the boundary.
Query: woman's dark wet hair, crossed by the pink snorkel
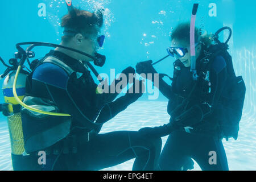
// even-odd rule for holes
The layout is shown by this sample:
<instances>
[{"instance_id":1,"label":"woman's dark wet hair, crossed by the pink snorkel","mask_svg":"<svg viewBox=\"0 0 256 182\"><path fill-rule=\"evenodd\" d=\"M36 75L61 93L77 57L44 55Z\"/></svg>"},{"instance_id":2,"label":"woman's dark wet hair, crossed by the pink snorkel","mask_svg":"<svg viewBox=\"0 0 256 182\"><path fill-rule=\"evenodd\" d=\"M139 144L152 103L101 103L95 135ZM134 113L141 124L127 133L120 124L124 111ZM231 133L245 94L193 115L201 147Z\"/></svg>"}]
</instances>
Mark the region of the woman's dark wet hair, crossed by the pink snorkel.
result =
<instances>
[{"instance_id":1,"label":"woman's dark wet hair, crossed by the pink snorkel","mask_svg":"<svg viewBox=\"0 0 256 182\"><path fill-rule=\"evenodd\" d=\"M181 40L188 45L190 44L190 23L178 24L171 33L171 40ZM206 50L213 42L211 35L203 35L201 29L195 27L195 43L201 43L202 50Z\"/></svg>"}]
</instances>

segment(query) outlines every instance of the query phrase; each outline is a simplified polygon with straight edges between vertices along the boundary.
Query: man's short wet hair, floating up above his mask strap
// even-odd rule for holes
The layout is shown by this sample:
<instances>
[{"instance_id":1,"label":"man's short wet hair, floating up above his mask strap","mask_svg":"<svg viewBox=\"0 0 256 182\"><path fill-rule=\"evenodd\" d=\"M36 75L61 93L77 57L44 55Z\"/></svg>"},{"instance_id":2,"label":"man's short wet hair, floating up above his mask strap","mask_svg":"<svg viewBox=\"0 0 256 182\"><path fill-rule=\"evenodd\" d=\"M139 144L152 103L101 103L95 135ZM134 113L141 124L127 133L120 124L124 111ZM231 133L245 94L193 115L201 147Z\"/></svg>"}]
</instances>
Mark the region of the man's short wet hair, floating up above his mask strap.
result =
<instances>
[{"instance_id":1,"label":"man's short wet hair, floating up above his mask strap","mask_svg":"<svg viewBox=\"0 0 256 182\"><path fill-rule=\"evenodd\" d=\"M93 35L100 31L103 25L103 10L98 10L95 13L89 11L74 9L69 11L61 19L61 27L69 28L80 34ZM67 41L71 39L70 36L63 36L62 40Z\"/></svg>"}]
</instances>

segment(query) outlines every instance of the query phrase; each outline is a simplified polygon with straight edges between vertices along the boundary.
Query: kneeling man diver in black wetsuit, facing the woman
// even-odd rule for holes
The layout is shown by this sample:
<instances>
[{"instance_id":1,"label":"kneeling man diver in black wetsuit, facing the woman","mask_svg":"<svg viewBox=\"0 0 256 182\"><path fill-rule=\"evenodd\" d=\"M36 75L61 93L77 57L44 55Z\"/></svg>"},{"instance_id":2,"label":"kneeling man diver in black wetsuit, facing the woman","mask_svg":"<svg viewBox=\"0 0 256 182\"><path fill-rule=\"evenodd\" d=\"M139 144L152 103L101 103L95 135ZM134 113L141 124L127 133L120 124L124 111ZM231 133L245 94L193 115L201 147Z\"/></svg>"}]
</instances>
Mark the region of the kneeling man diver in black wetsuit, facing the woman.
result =
<instances>
[{"instance_id":1,"label":"kneeling man diver in black wetsuit, facing the woman","mask_svg":"<svg viewBox=\"0 0 256 182\"><path fill-rule=\"evenodd\" d=\"M105 56L97 53L104 42L104 36L98 36L102 24L102 10L90 13L72 8L61 21L64 28L61 44L55 45L56 49L43 59L31 63L26 94L23 102L19 101L23 106L24 152L22 155L12 152L14 170L99 170L133 158L136 158L133 170L156 169L162 147L160 137L148 139L138 131L99 134L105 122L143 93L143 83L139 80L135 80L140 85L139 93L134 92L133 85L130 88L133 92L117 99L118 93L98 91L89 71L90 68L95 73L95 69L89 62L94 61L98 66L105 63ZM16 46L20 52L19 46L24 44ZM34 46L36 44L31 47ZM31 51L22 53L19 57L25 61L24 55ZM135 74L133 68L128 67L122 73L127 76L127 82L134 81L128 78L129 74ZM115 80L114 84L119 81ZM16 86L16 80L14 82ZM15 86L13 94L19 96ZM46 153L46 163L39 161L42 152Z\"/></svg>"}]
</instances>

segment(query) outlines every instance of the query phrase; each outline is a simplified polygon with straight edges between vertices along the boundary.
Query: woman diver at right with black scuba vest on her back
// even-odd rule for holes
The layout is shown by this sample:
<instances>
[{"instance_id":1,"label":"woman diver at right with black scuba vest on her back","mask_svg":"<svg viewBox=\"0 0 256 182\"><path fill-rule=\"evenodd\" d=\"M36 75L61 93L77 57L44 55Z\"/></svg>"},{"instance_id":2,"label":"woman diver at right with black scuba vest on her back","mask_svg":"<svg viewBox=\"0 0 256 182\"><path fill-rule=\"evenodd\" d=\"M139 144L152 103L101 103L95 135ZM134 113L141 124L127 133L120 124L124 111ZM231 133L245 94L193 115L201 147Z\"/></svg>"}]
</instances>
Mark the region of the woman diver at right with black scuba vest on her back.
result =
<instances>
[{"instance_id":1,"label":"woman diver at right with black scuba vest on her back","mask_svg":"<svg viewBox=\"0 0 256 182\"><path fill-rule=\"evenodd\" d=\"M192 72L191 24L180 23L172 31L168 54L175 57L172 84L159 74L159 90L168 98L170 122L139 130L147 137L164 137L167 142L159 158L161 170L193 168L194 159L202 170L228 170L222 138L237 139L245 98L242 77L236 77L228 45L217 35L201 35L195 27L195 70ZM231 36L231 30L230 30ZM229 39L230 39L229 36ZM136 66L137 73L157 73L152 60ZM194 74L196 73L196 74ZM152 82L155 82L152 78ZM215 154L215 159L211 158ZM213 160L213 161L212 161Z\"/></svg>"}]
</instances>

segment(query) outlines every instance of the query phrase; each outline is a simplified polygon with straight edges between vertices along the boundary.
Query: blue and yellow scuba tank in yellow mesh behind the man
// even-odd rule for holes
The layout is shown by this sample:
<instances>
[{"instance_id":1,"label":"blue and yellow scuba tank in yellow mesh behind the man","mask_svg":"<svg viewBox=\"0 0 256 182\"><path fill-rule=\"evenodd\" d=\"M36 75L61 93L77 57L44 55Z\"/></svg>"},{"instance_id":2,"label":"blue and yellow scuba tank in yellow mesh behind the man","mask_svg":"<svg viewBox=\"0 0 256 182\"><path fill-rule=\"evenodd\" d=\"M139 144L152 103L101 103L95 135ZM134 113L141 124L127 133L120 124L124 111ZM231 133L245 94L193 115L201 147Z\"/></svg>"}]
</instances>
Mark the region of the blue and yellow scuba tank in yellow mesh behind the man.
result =
<instances>
[{"instance_id":1,"label":"blue and yellow scuba tank in yellow mesh behind the man","mask_svg":"<svg viewBox=\"0 0 256 182\"><path fill-rule=\"evenodd\" d=\"M13 83L17 68L17 61L11 59L9 66L4 63L0 57L1 62L7 67L5 73L1 75L1 78L5 78L2 84L3 96L5 98L5 104L1 104L1 111L3 115L7 117L7 123L9 127L10 142L11 142L11 154L22 155L24 152L24 139L22 131L22 119L20 115L20 105L15 100L13 95ZM16 90L20 100L23 99L26 93L26 78L28 72L22 70L17 80Z\"/></svg>"}]
</instances>

